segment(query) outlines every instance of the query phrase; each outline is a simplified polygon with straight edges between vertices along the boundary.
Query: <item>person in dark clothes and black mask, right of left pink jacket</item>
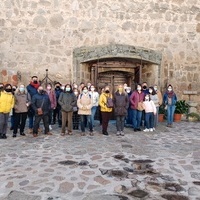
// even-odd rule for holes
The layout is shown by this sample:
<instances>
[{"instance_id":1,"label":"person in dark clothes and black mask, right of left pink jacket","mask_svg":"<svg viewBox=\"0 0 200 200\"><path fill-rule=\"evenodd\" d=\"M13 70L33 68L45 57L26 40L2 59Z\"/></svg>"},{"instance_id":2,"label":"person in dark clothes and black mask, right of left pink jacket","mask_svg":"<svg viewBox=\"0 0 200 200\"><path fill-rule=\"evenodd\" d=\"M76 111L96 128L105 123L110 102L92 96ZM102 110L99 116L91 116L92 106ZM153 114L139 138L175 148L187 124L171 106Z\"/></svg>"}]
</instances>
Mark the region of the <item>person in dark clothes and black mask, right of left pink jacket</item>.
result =
<instances>
[{"instance_id":1,"label":"person in dark clothes and black mask, right of left pink jacket","mask_svg":"<svg viewBox=\"0 0 200 200\"><path fill-rule=\"evenodd\" d=\"M58 121L58 126L61 127L62 121L61 121L61 107L58 103L59 96L62 92L61 84L57 82L55 84L55 95L56 95L56 108L53 110L53 124L56 123L56 120Z\"/></svg>"}]
</instances>

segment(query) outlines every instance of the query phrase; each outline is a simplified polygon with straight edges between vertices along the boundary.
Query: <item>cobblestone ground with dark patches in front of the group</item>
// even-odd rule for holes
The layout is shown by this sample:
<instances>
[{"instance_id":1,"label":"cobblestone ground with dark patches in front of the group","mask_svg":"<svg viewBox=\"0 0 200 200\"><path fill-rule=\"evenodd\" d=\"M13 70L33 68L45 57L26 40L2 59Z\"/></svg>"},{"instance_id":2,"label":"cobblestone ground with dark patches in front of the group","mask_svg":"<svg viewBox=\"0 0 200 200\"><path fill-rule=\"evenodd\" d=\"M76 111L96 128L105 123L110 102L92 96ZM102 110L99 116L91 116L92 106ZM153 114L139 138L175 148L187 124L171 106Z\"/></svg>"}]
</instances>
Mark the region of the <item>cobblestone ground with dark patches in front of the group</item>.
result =
<instances>
[{"instance_id":1,"label":"cobblestone ground with dark patches in front of the group","mask_svg":"<svg viewBox=\"0 0 200 200\"><path fill-rule=\"evenodd\" d=\"M200 123L0 141L0 200L200 200Z\"/></svg>"}]
</instances>

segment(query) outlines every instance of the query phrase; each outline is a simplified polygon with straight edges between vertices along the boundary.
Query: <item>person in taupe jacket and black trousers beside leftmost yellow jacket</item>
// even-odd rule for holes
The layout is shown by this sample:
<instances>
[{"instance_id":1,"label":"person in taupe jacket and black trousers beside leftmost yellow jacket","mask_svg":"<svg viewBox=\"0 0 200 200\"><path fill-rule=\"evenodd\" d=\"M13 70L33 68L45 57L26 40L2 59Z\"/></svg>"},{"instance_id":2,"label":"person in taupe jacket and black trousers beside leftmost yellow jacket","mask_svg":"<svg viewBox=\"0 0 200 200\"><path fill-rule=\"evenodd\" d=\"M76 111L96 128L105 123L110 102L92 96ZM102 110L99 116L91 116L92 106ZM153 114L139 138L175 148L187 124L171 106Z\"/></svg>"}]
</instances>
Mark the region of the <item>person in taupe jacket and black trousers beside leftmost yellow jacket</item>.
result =
<instances>
[{"instance_id":1,"label":"person in taupe jacket and black trousers beside leftmost yellow jacket","mask_svg":"<svg viewBox=\"0 0 200 200\"><path fill-rule=\"evenodd\" d=\"M15 92L15 120L13 137L17 136L17 130L20 129L20 135L25 136L24 128L26 125L28 107L31 105L31 96L27 92L24 84L20 84Z\"/></svg>"}]
</instances>

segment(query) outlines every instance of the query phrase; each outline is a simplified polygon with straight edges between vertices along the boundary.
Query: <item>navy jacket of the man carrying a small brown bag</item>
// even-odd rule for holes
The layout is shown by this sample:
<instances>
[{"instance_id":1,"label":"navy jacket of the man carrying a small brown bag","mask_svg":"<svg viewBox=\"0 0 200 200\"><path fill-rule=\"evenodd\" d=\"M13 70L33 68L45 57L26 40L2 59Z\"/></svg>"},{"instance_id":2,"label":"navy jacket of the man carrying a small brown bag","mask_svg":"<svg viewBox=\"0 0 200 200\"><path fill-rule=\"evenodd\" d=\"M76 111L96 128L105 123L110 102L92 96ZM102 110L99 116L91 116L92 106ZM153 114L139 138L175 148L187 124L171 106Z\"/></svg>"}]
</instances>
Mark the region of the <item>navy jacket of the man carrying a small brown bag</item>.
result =
<instances>
[{"instance_id":1,"label":"navy jacket of the man carrying a small brown bag","mask_svg":"<svg viewBox=\"0 0 200 200\"><path fill-rule=\"evenodd\" d=\"M43 114L47 115L51 109L51 102L49 96L44 94L35 94L32 98L31 106L37 115L37 109L42 108Z\"/></svg>"}]
</instances>

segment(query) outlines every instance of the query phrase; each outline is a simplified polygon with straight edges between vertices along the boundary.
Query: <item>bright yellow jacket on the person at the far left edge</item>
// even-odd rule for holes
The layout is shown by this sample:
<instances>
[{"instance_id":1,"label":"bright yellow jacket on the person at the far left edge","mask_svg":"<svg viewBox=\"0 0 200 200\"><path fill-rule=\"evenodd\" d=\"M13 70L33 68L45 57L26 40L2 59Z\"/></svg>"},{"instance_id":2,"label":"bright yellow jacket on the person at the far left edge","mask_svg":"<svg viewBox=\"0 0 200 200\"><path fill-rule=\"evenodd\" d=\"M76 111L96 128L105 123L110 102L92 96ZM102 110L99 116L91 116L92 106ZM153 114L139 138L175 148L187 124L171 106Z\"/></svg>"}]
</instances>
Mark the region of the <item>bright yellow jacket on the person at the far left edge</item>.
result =
<instances>
[{"instance_id":1,"label":"bright yellow jacket on the person at the far left edge","mask_svg":"<svg viewBox=\"0 0 200 200\"><path fill-rule=\"evenodd\" d=\"M0 113L10 113L14 107L14 96L5 91L0 92Z\"/></svg>"}]
</instances>

